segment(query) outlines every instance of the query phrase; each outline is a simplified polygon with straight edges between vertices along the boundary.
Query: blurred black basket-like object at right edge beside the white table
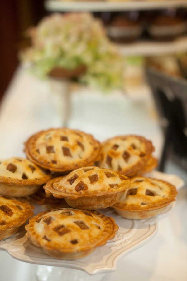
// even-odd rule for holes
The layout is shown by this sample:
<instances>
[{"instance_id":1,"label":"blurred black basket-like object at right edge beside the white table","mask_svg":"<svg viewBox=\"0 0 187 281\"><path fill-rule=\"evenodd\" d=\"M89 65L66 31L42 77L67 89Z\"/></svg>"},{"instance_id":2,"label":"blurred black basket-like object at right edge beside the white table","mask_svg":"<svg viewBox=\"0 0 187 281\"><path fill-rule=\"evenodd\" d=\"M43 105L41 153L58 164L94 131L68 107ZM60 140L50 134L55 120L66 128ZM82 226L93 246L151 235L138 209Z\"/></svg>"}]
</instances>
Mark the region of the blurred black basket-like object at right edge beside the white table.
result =
<instances>
[{"instance_id":1,"label":"blurred black basket-like object at right edge beside the white table","mask_svg":"<svg viewBox=\"0 0 187 281\"><path fill-rule=\"evenodd\" d=\"M158 170L164 171L168 159L187 170L187 80L151 67L145 72L165 136Z\"/></svg>"}]
</instances>

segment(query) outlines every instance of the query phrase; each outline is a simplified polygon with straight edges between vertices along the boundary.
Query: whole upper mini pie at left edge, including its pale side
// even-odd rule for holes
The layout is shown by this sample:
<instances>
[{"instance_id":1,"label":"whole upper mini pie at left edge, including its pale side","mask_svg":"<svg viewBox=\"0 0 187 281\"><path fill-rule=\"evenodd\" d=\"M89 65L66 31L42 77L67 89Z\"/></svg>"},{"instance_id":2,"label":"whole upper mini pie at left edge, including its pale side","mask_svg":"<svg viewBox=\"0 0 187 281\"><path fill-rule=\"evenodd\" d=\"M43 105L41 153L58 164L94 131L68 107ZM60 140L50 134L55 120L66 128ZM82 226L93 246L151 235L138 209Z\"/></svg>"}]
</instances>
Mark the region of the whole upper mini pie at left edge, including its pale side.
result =
<instances>
[{"instance_id":1,"label":"whole upper mini pie at left edge, including its pale side","mask_svg":"<svg viewBox=\"0 0 187 281\"><path fill-rule=\"evenodd\" d=\"M0 194L24 197L35 193L52 178L33 162L22 157L0 160Z\"/></svg>"}]
</instances>

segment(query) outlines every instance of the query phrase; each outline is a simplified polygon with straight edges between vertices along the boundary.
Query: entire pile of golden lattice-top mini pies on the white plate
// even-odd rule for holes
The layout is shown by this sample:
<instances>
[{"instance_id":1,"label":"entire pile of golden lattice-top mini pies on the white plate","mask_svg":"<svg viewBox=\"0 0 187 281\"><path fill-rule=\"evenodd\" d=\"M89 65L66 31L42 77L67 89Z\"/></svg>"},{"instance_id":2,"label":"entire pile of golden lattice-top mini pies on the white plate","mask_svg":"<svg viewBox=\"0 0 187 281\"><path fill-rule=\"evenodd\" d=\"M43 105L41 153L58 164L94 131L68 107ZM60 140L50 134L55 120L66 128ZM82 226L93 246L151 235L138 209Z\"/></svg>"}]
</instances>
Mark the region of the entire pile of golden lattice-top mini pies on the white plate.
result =
<instances>
[{"instance_id":1,"label":"entire pile of golden lattice-top mini pies on the white plate","mask_svg":"<svg viewBox=\"0 0 187 281\"><path fill-rule=\"evenodd\" d=\"M115 237L118 226L102 209L146 219L177 195L170 183L145 176L157 159L152 142L143 136L100 143L83 131L50 128L30 136L24 151L26 158L0 163L0 239L30 218L27 237L57 259L82 258ZM33 204L47 210L33 216Z\"/></svg>"}]
</instances>

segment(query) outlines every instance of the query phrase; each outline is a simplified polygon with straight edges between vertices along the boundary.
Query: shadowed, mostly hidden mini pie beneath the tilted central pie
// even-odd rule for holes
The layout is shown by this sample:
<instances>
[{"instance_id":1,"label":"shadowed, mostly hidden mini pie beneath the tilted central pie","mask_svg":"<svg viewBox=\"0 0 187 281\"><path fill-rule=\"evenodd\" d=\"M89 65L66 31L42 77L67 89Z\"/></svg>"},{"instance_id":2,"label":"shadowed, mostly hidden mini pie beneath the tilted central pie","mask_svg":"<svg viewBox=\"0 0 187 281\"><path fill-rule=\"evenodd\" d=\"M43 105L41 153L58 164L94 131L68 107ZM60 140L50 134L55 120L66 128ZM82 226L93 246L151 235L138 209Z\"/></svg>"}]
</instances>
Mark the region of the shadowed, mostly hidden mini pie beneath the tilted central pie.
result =
<instances>
[{"instance_id":1,"label":"shadowed, mostly hidden mini pie beneath the tilted central pie","mask_svg":"<svg viewBox=\"0 0 187 281\"><path fill-rule=\"evenodd\" d=\"M58 177L58 178L53 178L47 182L48 185L52 185L55 180L61 180L64 176ZM41 187L36 193L25 197L25 199L30 202L30 203L36 203L38 205L46 205L48 209L51 208L57 208L57 207L62 207L62 208L67 208L70 207L64 198L57 198L54 197L53 195L46 194L45 190L43 187Z\"/></svg>"}]
</instances>

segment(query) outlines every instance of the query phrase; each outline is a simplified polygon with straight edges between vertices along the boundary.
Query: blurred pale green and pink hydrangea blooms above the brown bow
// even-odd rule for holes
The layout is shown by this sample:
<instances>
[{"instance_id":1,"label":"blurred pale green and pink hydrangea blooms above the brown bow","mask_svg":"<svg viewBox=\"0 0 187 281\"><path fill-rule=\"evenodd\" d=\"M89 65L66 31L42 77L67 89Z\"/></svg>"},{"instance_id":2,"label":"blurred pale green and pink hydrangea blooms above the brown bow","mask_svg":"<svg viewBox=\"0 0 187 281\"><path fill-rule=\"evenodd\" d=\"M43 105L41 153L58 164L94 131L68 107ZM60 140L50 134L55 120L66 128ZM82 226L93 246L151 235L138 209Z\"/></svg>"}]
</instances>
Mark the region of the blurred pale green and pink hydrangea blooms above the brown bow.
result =
<instances>
[{"instance_id":1,"label":"blurred pale green and pink hydrangea blooms above the brown bow","mask_svg":"<svg viewBox=\"0 0 187 281\"><path fill-rule=\"evenodd\" d=\"M123 58L91 13L54 13L27 31L31 46L19 54L38 77L55 67L86 66L79 82L103 90L122 88Z\"/></svg>"}]
</instances>

